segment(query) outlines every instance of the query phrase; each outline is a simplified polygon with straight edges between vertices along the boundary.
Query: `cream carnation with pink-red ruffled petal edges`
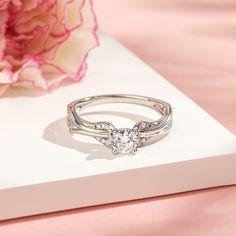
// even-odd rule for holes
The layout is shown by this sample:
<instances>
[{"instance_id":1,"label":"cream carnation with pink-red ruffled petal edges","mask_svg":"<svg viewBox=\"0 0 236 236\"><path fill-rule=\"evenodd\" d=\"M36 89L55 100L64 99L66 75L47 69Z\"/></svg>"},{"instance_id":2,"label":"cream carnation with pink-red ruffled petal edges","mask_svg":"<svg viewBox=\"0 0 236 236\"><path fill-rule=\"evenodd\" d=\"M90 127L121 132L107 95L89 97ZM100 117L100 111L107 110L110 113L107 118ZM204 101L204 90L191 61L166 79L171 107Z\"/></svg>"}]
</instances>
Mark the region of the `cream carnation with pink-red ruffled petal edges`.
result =
<instances>
[{"instance_id":1,"label":"cream carnation with pink-red ruffled petal edges","mask_svg":"<svg viewBox=\"0 0 236 236\"><path fill-rule=\"evenodd\" d=\"M91 0L0 0L0 95L79 81L96 29Z\"/></svg>"}]
</instances>

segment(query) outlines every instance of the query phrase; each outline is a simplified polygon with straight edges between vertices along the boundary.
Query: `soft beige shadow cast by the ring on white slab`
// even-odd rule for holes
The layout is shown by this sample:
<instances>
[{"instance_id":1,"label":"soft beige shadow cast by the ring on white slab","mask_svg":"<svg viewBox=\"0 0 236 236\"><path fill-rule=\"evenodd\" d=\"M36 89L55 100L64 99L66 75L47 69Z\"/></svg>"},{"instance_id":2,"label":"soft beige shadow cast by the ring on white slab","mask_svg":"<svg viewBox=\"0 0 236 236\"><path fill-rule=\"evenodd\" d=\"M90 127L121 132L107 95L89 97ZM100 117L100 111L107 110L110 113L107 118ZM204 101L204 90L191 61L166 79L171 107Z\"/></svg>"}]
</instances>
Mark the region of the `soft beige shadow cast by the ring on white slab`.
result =
<instances>
[{"instance_id":1,"label":"soft beige shadow cast by the ring on white slab","mask_svg":"<svg viewBox=\"0 0 236 236\"><path fill-rule=\"evenodd\" d=\"M102 115L105 114L109 116L110 115L121 116L128 118L134 122L137 122L138 120L153 121L148 117L129 112L115 112L115 111L99 111L99 112L96 111L96 112L86 112L86 113L84 112L83 116L99 115L99 114ZM87 160L94 160L94 159L112 160L117 157L117 155L112 154L110 148L106 147L101 143L94 144L94 143L83 142L80 139L73 137L73 135L68 131L68 127L66 124L66 117L60 118L50 123L44 129L42 138L50 143L54 143L66 148L74 149L78 152L82 152L87 155L86 156Z\"/></svg>"}]
</instances>

